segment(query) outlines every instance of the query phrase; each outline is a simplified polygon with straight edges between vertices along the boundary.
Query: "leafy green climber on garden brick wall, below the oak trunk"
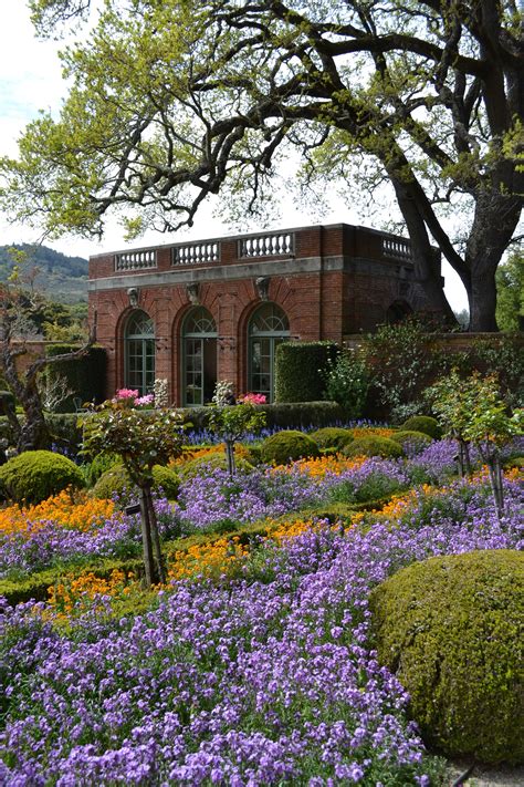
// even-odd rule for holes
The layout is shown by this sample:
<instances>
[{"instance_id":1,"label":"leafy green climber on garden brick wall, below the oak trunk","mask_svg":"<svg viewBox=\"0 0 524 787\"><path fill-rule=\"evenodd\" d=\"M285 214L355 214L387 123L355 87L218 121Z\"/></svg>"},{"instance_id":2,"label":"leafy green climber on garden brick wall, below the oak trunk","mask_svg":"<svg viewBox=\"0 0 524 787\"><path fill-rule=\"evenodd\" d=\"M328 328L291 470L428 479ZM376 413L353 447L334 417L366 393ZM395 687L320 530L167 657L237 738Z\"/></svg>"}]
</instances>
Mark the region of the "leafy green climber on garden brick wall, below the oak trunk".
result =
<instances>
[{"instance_id":1,"label":"leafy green climber on garden brick wall, below the oak trunk","mask_svg":"<svg viewBox=\"0 0 524 787\"><path fill-rule=\"evenodd\" d=\"M428 349L428 338L420 321L405 320L382 325L363 348L373 386L395 423L419 414L420 393L442 366L440 353Z\"/></svg>"}]
</instances>

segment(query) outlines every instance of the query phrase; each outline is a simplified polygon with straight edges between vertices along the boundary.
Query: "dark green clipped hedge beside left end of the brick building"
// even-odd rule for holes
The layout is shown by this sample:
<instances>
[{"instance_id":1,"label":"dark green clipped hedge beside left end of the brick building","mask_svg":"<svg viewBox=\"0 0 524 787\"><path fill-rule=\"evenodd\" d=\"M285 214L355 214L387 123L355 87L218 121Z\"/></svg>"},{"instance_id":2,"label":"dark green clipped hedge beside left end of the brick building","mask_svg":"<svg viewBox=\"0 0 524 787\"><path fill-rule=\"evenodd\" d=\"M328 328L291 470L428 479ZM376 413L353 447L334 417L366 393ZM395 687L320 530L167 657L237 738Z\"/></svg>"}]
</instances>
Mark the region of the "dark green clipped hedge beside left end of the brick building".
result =
<instances>
[{"instance_id":1,"label":"dark green clipped hedge beside left end of the brick building","mask_svg":"<svg viewBox=\"0 0 524 787\"><path fill-rule=\"evenodd\" d=\"M78 344L50 344L46 355L54 358L78 349ZM60 403L60 412L75 411L74 398L84 402L101 402L105 392L105 372L107 353L105 348L92 346L82 358L53 363L44 370L44 375L52 384L53 380L63 377L73 392Z\"/></svg>"}]
</instances>

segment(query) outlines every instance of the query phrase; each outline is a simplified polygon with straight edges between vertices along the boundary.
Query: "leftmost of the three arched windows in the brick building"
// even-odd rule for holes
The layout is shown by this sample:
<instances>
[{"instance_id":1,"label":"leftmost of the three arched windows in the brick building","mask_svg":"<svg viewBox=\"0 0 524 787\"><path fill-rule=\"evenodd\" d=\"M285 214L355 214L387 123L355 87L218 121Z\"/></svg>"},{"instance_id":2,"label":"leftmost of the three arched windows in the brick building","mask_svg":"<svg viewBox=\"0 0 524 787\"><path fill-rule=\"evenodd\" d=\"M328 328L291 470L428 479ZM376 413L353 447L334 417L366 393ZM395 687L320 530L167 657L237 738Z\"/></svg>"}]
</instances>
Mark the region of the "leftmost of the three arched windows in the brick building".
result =
<instances>
[{"instance_id":1,"label":"leftmost of the three arched windows in the brick building","mask_svg":"<svg viewBox=\"0 0 524 787\"><path fill-rule=\"evenodd\" d=\"M125 331L125 384L140 396L155 383L155 325L145 311L134 311Z\"/></svg>"}]
</instances>

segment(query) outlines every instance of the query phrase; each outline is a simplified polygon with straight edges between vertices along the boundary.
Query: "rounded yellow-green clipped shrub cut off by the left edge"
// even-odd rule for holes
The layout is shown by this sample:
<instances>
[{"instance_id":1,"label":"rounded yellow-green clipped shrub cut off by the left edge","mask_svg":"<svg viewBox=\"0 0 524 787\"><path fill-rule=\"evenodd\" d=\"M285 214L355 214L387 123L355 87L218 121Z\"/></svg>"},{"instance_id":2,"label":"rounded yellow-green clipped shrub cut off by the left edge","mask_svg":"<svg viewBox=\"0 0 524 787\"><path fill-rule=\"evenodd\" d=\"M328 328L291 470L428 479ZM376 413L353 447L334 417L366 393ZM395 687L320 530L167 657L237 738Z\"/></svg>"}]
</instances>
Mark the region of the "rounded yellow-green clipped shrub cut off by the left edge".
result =
<instances>
[{"instance_id":1,"label":"rounded yellow-green clipped shrub cut off by the left edge","mask_svg":"<svg viewBox=\"0 0 524 787\"><path fill-rule=\"evenodd\" d=\"M67 487L84 486L82 470L52 451L25 451L0 467L0 486L15 503L36 504Z\"/></svg>"}]
</instances>

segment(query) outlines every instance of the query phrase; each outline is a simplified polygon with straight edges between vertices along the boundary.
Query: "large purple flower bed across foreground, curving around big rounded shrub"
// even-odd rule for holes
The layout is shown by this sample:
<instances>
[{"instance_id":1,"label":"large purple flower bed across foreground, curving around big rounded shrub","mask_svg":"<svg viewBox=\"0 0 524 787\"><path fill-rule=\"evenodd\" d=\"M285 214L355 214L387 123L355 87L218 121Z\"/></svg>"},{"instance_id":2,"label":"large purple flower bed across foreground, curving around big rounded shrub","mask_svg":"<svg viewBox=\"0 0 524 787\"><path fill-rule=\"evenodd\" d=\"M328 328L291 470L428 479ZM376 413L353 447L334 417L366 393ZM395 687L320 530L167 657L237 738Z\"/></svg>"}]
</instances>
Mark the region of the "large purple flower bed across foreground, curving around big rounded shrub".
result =
<instances>
[{"instance_id":1,"label":"large purple flower bed across foreground, curving around big rounded shrub","mask_svg":"<svg viewBox=\"0 0 524 787\"><path fill-rule=\"evenodd\" d=\"M522 490L499 522L457 483L404 520L269 545L230 587L178 582L136 618L67 635L1 609L0 783L444 784L368 642L370 588L434 553L517 548Z\"/></svg>"}]
</instances>

